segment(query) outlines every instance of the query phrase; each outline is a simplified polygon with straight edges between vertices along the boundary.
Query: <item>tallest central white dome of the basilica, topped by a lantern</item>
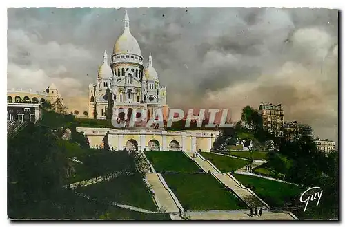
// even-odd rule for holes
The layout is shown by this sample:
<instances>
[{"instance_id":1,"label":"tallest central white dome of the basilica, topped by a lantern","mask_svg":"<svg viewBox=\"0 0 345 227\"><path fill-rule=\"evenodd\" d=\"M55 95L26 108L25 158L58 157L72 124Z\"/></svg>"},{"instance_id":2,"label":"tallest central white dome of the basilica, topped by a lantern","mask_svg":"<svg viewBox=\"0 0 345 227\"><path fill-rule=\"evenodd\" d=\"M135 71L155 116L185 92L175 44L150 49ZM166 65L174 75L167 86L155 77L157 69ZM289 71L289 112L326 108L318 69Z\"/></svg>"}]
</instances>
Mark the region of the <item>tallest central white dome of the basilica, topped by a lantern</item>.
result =
<instances>
[{"instance_id":1,"label":"tallest central white dome of the basilica, topped by a lantern","mask_svg":"<svg viewBox=\"0 0 345 227\"><path fill-rule=\"evenodd\" d=\"M115 45L113 54L137 54L141 56L139 44L134 36L130 33L129 17L126 12L124 20L124 33L119 36Z\"/></svg>"}]
</instances>

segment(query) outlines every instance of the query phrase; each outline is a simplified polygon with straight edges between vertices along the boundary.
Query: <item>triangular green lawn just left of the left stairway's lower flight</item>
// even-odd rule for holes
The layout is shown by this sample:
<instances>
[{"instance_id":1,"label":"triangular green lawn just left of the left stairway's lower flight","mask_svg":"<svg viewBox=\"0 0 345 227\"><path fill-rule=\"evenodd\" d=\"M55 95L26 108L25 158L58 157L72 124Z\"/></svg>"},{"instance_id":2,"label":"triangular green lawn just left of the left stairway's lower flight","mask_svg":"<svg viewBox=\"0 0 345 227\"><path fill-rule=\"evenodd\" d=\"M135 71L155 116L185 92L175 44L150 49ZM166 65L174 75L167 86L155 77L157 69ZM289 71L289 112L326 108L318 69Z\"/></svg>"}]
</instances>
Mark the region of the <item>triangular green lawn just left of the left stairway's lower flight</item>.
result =
<instances>
[{"instance_id":1,"label":"triangular green lawn just left of the left stairway's lower flight","mask_svg":"<svg viewBox=\"0 0 345 227\"><path fill-rule=\"evenodd\" d=\"M140 175L121 175L114 179L78 189L81 193L103 202L118 202L157 211L152 196Z\"/></svg>"}]
</instances>

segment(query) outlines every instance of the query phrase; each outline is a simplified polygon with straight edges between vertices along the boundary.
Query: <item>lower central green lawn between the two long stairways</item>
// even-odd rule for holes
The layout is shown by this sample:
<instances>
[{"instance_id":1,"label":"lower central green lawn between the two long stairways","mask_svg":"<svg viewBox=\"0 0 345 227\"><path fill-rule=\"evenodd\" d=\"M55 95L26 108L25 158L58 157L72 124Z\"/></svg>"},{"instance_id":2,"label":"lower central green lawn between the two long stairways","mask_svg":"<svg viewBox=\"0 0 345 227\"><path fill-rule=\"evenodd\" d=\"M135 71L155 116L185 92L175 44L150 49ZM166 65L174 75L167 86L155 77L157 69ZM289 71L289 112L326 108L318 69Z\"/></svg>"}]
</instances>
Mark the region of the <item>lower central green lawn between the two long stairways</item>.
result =
<instances>
[{"instance_id":1,"label":"lower central green lawn between the two long stairways","mask_svg":"<svg viewBox=\"0 0 345 227\"><path fill-rule=\"evenodd\" d=\"M179 202L188 210L238 210L246 204L222 188L212 175L200 174L164 174L169 188Z\"/></svg>"}]
</instances>

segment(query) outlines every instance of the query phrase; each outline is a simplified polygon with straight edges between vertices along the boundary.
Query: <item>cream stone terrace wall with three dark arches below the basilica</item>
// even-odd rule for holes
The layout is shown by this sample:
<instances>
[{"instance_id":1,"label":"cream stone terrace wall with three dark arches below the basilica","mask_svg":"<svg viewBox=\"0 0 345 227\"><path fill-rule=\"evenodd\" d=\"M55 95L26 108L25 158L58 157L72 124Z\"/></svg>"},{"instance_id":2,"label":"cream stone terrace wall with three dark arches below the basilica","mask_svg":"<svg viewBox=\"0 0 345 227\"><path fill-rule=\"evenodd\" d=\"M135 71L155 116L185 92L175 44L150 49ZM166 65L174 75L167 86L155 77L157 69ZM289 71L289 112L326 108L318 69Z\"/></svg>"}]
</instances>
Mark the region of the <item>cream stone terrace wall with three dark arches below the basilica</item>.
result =
<instances>
[{"instance_id":1,"label":"cream stone terrace wall with three dark arches below the basilica","mask_svg":"<svg viewBox=\"0 0 345 227\"><path fill-rule=\"evenodd\" d=\"M146 151L207 151L209 152L219 131L149 131L105 128L79 128L88 136L90 147L103 144L107 136L110 149Z\"/></svg>"}]
</instances>

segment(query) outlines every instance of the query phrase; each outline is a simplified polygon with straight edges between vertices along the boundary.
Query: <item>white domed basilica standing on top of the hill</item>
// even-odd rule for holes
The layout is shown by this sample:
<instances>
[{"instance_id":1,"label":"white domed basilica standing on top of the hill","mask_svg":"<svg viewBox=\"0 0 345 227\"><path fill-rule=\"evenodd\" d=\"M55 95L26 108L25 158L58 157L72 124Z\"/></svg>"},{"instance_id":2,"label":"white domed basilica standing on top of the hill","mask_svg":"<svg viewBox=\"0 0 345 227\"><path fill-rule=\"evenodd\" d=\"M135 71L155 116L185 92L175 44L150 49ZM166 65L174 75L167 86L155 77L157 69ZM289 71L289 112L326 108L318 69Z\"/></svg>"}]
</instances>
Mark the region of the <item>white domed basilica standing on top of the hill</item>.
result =
<instances>
[{"instance_id":1,"label":"white domed basilica standing on top of the hill","mask_svg":"<svg viewBox=\"0 0 345 227\"><path fill-rule=\"evenodd\" d=\"M128 120L132 111L146 111L148 117L161 111L166 118L166 87L159 83L151 54L147 59L144 66L139 44L130 32L126 12L124 32L115 42L110 63L104 51L97 83L89 85L88 118L119 118L113 115L124 112L121 120Z\"/></svg>"}]
</instances>

